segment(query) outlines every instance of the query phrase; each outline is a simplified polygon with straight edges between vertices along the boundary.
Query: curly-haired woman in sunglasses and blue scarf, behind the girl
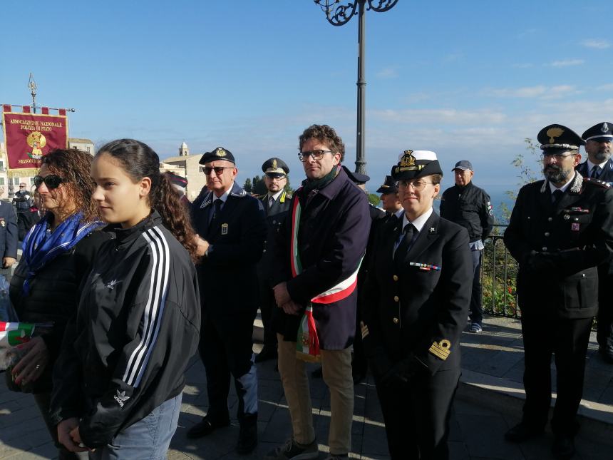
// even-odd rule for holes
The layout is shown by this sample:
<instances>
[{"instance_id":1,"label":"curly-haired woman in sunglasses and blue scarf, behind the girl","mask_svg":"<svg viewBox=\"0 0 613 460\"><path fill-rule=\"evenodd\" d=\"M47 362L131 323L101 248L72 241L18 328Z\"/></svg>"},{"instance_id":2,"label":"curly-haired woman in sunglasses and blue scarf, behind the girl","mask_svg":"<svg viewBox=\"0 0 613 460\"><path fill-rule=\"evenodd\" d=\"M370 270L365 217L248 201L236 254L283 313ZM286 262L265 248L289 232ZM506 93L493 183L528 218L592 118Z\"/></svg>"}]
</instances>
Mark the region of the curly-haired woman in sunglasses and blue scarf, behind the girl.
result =
<instances>
[{"instance_id":1,"label":"curly-haired woman in sunglasses and blue scarf, behind the girl","mask_svg":"<svg viewBox=\"0 0 613 460\"><path fill-rule=\"evenodd\" d=\"M23 255L11 279L10 297L19 320L53 322L53 329L22 346L24 357L11 374L13 389L34 393L43 419L58 446L60 459L76 459L58 444L48 416L51 370L61 348L68 319L76 313L78 286L93 256L109 235L102 231L92 200L92 158L80 150L54 150L43 156L34 178L44 217L24 238Z\"/></svg>"}]
</instances>

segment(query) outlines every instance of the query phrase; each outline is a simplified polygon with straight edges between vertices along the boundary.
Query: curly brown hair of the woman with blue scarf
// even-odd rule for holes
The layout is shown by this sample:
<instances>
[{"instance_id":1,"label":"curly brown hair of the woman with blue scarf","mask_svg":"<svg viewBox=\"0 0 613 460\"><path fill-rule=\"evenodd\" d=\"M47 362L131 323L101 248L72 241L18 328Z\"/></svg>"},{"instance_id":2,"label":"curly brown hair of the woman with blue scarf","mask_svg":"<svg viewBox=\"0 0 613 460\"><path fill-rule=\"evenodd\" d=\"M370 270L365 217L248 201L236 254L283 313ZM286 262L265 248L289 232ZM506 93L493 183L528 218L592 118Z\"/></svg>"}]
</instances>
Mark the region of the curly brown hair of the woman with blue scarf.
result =
<instances>
[{"instance_id":1,"label":"curly brown hair of the woman with blue scarf","mask_svg":"<svg viewBox=\"0 0 613 460\"><path fill-rule=\"evenodd\" d=\"M83 222L100 220L96 201L92 200L93 181L89 175L93 158L83 150L57 148L44 155L41 166L47 165L51 173L63 178L66 194L83 213Z\"/></svg>"}]
</instances>

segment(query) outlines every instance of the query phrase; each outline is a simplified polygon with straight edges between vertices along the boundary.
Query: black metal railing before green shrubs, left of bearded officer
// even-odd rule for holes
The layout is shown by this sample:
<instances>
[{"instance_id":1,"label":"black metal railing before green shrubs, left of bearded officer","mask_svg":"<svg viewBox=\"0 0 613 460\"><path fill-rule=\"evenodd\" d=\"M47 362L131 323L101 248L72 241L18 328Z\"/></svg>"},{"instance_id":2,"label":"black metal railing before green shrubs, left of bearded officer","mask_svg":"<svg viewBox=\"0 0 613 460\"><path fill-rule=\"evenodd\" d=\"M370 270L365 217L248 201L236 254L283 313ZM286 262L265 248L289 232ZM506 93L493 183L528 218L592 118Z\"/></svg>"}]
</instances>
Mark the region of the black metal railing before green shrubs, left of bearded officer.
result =
<instances>
[{"instance_id":1,"label":"black metal railing before green shrubs, left of bearded officer","mask_svg":"<svg viewBox=\"0 0 613 460\"><path fill-rule=\"evenodd\" d=\"M498 231L483 242L481 262L481 305L488 315L517 318L517 262L508 252L503 240L507 225L494 225ZM500 234L498 234L500 233Z\"/></svg>"}]
</instances>

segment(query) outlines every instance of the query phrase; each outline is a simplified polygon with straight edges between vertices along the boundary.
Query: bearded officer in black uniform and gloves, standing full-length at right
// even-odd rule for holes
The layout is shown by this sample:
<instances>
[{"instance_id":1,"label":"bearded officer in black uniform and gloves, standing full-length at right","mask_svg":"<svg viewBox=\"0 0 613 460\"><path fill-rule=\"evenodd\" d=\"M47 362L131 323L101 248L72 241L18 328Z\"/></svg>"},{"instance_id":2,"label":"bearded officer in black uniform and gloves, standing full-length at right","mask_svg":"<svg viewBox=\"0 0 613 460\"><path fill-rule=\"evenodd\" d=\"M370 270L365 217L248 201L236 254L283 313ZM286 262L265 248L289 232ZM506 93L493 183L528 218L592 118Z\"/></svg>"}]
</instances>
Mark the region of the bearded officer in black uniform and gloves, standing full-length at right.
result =
<instances>
[{"instance_id":1,"label":"bearded officer in black uniform and gloves, standing full-length at right","mask_svg":"<svg viewBox=\"0 0 613 460\"><path fill-rule=\"evenodd\" d=\"M585 354L597 312L597 265L613 252L613 191L575 171L583 140L566 126L538 133L545 180L517 195L505 245L520 264L517 295L525 352L523 418L506 434L525 441L542 434L551 402L551 356L557 398L551 420L552 451L575 454L577 409Z\"/></svg>"}]
</instances>

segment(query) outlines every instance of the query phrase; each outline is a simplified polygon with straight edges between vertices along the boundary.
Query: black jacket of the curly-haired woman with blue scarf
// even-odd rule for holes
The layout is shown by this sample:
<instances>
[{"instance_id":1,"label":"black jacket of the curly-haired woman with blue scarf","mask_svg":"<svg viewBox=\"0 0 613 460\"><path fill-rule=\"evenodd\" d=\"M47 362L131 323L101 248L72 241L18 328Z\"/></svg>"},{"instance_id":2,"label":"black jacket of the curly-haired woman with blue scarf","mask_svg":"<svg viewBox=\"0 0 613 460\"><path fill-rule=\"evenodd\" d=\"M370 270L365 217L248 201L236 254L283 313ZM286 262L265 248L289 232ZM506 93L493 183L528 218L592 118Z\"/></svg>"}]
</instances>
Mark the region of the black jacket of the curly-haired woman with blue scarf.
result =
<instances>
[{"instance_id":1,"label":"black jacket of the curly-haired woman with blue scarf","mask_svg":"<svg viewBox=\"0 0 613 460\"><path fill-rule=\"evenodd\" d=\"M68 252L48 262L30 280L30 293L24 295L28 265L23 260L17 265L9 295L17 317L23 322L53 322L53 329L43 335L50 354L50 364L33 384L33 392L51 392L51 371L60 353L66 323L76 314L78 286L89 273L91 263L103 242L110 236L95 230L79 241Z\"/></svg>"}]
</instances>

